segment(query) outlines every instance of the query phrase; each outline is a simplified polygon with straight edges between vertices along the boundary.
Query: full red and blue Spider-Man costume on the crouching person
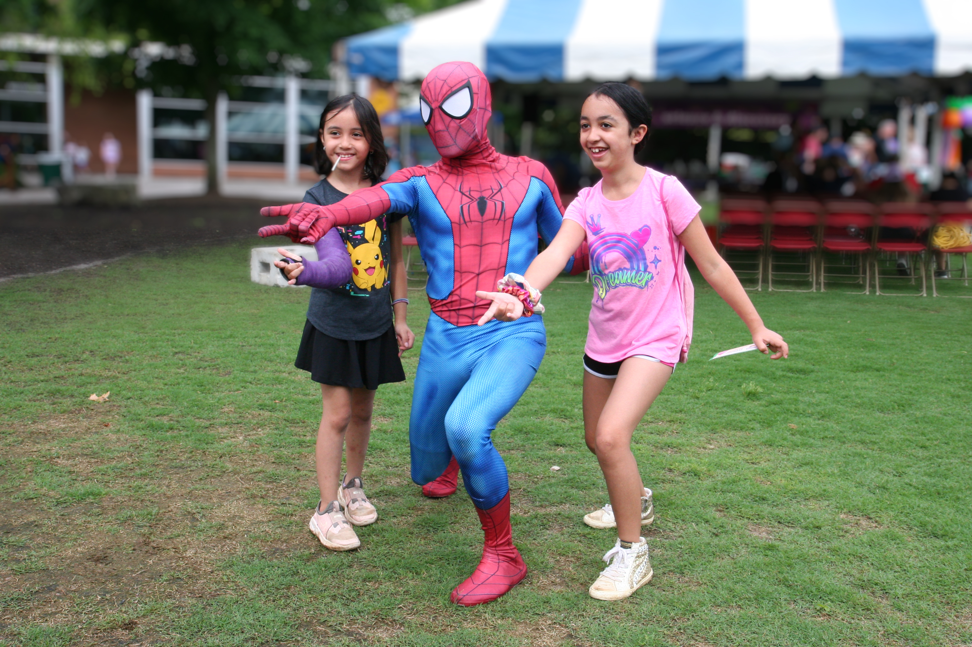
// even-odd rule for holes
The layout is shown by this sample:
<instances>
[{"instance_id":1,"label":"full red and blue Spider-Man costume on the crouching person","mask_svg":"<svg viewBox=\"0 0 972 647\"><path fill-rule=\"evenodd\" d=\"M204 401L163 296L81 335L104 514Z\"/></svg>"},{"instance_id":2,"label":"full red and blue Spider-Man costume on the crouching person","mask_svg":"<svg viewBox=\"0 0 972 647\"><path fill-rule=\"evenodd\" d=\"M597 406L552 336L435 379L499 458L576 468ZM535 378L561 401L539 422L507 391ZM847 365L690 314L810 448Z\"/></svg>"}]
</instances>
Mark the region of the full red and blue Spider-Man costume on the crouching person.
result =
<instances>
[{"instance_id":1,"label":"full red and blue Spider-Man costume on the crouching person","mask_svg":"<svg viewBox=\"0 0 972 647\"><path fill-rule=\"evenodd\" d=\"M420 105L442 159L402 169L328 207L264 208L264 215L289 221L260 229L260 236L314 243L334 225L408 215L429 270L433 310L409 420L412 479L425 485L448 474L453 457L463 470L485 533L479 566L452 592L452 601L467 606L499 598L527 574L512 543L506 466L491 434L530 385L546 348L539 315L476 326L489 302L475 292L495 291L504 275L526 272L538 233L549 243L563 213L542 164L502 155L489 143L491 104L489 81L475 65L439 65L422 82ZM578 251L567 269L583 272L586 262L585 250Z\"/></svg>"}]
</instances>

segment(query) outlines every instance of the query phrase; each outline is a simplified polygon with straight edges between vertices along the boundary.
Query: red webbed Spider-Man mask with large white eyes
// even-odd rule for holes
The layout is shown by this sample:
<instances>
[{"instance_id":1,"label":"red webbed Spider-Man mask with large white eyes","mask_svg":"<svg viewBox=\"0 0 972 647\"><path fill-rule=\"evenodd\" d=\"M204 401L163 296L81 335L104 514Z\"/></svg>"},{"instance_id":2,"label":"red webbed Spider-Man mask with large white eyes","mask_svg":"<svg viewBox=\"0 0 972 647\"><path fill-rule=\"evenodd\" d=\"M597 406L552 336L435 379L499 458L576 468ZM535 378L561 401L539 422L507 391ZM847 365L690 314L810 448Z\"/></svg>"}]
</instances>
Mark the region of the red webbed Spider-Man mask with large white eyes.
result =
<instances>
[{"instance_id":1,"label":"red webbed Spider-Man mask with large white eyes","mask_svg":"<svg viewBox=\"0 0 972 647\"><path fill-rule=\"evenodd\" d=\"M486 75L472 63L435 67L422 81L419 107L442 157L462 157L489 146L486 124L493 113L493 96Z\"/></svg>"}]
</instances>

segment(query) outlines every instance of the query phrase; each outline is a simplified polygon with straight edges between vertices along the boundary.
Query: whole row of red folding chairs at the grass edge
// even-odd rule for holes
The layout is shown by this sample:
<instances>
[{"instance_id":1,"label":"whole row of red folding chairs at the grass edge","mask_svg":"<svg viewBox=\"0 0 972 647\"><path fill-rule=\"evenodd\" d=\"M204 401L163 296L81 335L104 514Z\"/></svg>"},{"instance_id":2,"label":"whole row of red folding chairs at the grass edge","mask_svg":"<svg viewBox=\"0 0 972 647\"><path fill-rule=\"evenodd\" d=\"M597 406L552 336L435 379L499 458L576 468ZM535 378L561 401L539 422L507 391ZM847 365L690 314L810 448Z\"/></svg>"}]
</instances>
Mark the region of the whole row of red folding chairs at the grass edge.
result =
<instances>
[{"instance_id":1,"label":"whole row of red folding chairs at the grass edge","mask_svg":"<svg viewBox=\"0 0 972 647\"><path fill-rule=\"evenodd\" d=\"M828 283L851 282L869 294L872 276L875 292L882 292L880 261L886 258L907 259L906 279L916 285L920 277L921 289L915 296L927 294L926 275L931 275L932 294L941 296L935 287L935 273L930 272L930 235L937 223L955 222L972 226L972 210L966 203L885 203L875 205L863 200L816 201L813 199L785 199L766 202L747 198L724 198L719 212L716 246L728 260L730 252L747 251L755 256L749 269L740 264L737 274L750 274L761 290L765 283L769 290L812 292L827 289ZM888 229L907 232L902 238L888 236ZM939 251L939 250L935 250ZM941 250L950 259L950 276L960 273L968 285L967 253L972 245ZM951 269L951 257L959 255L961 267ZM836 259L834 257L837 257ZM793 261L793 258L797 261ZM800 271L787 271L798 265ZM843 273L828 272L844 268ZM917 276L916 276L917 275ZM900 276L893 276L900 278ZM774 284L774 280L777 284ZM779 281L806 280L805 288L779 286ZM900 293L893 293L900 294Z\"/></svg>"}]
</instances>

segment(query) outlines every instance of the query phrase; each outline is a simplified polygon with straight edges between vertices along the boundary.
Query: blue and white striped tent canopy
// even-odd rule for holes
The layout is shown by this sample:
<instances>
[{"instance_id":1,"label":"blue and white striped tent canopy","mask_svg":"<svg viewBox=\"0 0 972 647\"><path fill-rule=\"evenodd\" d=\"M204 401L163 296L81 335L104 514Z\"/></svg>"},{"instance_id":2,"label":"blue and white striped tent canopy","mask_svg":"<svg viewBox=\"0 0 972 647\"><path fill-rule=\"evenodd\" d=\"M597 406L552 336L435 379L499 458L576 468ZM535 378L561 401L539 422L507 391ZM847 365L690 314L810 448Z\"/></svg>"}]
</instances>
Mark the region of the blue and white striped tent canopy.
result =
<instances>
[{"instance_id":1,"label":"blue and white striped tent canopy","mask_svg":"<svg viewBox=\"0 0 972 647\"><path fill-rule=\"evenodd\" d=\"M347 39L352 76L466 60L511 82L951 77L972 0L471 0Z\"/></svg>"}]
</instances>

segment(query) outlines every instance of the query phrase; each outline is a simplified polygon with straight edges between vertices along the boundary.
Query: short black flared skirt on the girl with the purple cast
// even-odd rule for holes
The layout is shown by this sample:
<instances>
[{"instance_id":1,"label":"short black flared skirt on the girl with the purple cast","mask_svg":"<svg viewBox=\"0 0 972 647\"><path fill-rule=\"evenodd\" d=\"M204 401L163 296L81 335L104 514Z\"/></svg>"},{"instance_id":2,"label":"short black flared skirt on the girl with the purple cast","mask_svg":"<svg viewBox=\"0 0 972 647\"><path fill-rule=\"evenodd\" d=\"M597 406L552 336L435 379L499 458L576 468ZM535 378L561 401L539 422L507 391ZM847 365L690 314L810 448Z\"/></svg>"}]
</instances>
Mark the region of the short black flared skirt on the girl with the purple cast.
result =
<instances>
[{"instance_id":1,"label":"short black flared skirt on the girl with the purple cast","mask_svg":"<svg viewBox=\"0 0 972 647\"><path fill-rule=\"evenodd\" d=\"M379 384L405 379L394 326L373 340L337 340L308 321L294 366L310 372L315 382L352 389L374 391Z\"/></svg>"}]
</instances>

